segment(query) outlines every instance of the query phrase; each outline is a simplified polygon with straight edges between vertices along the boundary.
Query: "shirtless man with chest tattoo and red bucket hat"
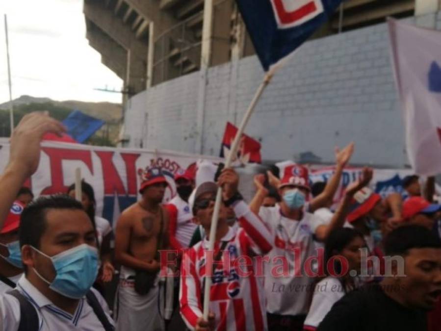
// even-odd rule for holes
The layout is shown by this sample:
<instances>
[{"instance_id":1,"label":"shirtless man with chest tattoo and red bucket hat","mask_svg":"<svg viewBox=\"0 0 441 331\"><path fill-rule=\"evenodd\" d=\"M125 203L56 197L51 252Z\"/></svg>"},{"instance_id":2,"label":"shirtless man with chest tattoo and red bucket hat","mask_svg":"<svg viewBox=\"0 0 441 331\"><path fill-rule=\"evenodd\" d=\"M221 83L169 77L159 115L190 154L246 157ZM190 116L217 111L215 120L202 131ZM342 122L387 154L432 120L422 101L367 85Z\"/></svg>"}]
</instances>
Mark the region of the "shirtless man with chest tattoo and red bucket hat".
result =
<instances>
[{"instance_id":1,"label":"shirtless man with chest tattoo and red bucket hat","mask_svg":"<svg viewBox=\"0 0 441 331\"><path fill-rule=\"evenodd\" d=\"M164 321L158 311L158 280L147 294L135 290L135 274L157 274L158 250L168 247L168 213L161 205L167 181L160 169L142 175L142 199L121 214L115 231L115 258L121 264L115 316L116 330L162 331ZM146 275L146 277L149 277Z\"/></svg>"}]
</instances>

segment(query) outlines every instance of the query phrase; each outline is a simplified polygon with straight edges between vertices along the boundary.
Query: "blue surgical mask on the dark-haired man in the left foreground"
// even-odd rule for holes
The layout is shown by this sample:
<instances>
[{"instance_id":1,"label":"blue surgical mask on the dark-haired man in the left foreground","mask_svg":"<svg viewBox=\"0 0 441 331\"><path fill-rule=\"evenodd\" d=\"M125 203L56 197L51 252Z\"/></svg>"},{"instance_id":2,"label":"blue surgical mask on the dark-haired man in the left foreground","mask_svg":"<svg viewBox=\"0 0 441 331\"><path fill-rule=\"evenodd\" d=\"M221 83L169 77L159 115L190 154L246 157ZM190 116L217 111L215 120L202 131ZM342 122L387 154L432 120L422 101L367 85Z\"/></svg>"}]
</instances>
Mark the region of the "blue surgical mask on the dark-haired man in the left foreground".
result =
<instances>
[{"instance_id":1,"label":"blue surgical mask on the dark-haired man in the left foreground","mask_svg":"<svg viewBox=\"0 0 441 331\"><path fill-rule=\"evenodd\" d=\"M80 299L95 282L98 275L98 250L95 247L82 244L54 256L32 248L52 261L56 272L52 282L34 271L53 291L71 299Z\"/></svg>"}]
</instances>

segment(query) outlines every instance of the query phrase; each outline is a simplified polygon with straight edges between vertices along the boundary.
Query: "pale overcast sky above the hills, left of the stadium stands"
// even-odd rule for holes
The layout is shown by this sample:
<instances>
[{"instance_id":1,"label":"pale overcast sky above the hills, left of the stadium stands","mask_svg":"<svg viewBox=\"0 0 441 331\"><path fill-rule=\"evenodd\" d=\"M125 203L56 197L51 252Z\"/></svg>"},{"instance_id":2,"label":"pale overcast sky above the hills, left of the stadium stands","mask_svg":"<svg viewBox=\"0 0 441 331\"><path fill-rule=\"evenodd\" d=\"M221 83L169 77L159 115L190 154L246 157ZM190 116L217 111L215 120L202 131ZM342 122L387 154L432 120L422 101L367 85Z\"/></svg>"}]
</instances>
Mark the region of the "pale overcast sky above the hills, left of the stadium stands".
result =
<instances>
[{"instance_id":1,"label":"pale overcast sky above the hills, left of the stadium stands","mask_svg":"<svg viewBox=\"0 0 441 331\"><path fill-rule=\"evenodd\" d=\"M122 80L89 46L83 0L0 0L0 103L9 100L4 14L9 28L12 97L121 102Z\"/></svg>"}]
</instances>

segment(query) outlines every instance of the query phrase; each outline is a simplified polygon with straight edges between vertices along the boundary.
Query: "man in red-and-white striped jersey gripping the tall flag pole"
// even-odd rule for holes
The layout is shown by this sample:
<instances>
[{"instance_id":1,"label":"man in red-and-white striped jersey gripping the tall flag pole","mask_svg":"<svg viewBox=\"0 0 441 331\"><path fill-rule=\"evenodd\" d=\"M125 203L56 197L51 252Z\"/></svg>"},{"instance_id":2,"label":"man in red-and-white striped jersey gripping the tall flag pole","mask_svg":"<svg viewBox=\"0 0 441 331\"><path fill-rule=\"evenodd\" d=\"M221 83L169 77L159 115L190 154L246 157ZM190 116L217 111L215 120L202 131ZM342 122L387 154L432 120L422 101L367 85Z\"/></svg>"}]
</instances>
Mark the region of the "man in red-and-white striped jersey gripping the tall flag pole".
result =
<instances>
[{"instance_id":1,"label":"man in red-and-white striped jersey gripping the tall flag pole","mask_svg":"<svg viewBox=\"0 0 441 331\"><path fill-rule=\"evenodd\" d=\"M258 258L253 262L252 257L269 252L273 236L243 202L237 192L238 181L233 169L224 169L219 177L223 203L212 252L208 251L208 238L218 185L204 182L190 198L195 221L206 233L201 242L185 251L182 259L181 315L190 330L268 330L265 298L258 279L262 270L256 268ZM237 230L228 226L229 207L240 223ZM206 275L212 276L209 321L202 318Z\"/></svg>"}]
</instances>

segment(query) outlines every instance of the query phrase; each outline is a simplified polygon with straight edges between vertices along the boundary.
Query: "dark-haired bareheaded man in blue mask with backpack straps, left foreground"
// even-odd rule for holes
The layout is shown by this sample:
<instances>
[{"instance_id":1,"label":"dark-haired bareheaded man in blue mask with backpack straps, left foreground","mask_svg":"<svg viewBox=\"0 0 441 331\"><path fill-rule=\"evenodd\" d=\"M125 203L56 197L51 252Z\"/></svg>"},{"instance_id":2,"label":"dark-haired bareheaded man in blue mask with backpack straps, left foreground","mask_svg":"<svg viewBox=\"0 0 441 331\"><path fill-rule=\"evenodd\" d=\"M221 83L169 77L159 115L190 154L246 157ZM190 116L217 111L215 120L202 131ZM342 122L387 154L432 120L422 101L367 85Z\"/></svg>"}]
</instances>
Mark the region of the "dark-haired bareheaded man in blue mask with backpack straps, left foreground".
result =
<instances>
[{"instance_id":1,"label":"dark-haired bareheaded man in blue mask with backpack straps, left foreground","mask_svg":"<svg viewBox=\"0 0 441 331\"><path fill-rule=\"evenodd\" d=\"M94 227L82 205L55 195L22 213L25 275L0 298L3 331L113 331L104 298L93 288L99 266Z\"/></svg>"}]
</instances>

